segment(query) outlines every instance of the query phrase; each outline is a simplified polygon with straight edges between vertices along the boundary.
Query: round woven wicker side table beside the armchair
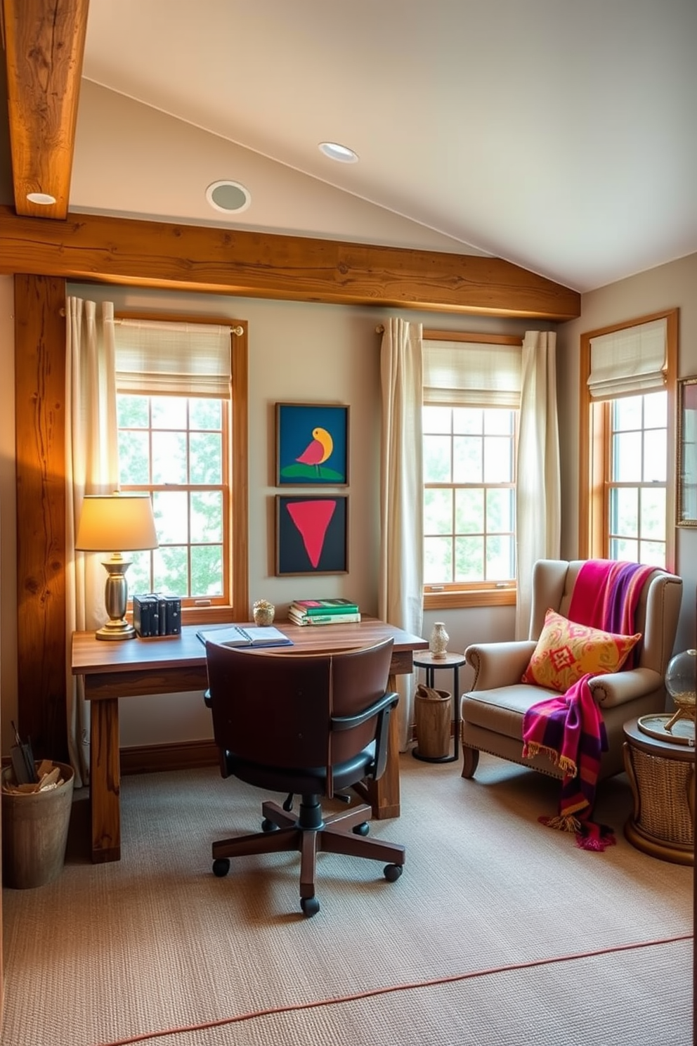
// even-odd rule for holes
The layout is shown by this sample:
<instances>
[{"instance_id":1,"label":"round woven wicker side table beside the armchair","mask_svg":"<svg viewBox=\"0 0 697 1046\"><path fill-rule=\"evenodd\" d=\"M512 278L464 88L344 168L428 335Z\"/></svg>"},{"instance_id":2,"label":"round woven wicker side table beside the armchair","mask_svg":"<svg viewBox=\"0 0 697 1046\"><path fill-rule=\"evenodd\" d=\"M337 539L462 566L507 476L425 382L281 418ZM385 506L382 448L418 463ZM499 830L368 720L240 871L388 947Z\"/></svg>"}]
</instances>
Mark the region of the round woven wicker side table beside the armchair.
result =
<instances>
[{"instance_id":1,"label":"round woven wicker side table beside the armchair","mask_svg":"<svg viewBox=\"0 0 697 1046\"><path fill-rule=\"evenodd\" d=\"M626 838L651 857L694 864L695 749L650 736L635 719L623 729L625 770L634 797Z\"/></svg>"}]
</instances>

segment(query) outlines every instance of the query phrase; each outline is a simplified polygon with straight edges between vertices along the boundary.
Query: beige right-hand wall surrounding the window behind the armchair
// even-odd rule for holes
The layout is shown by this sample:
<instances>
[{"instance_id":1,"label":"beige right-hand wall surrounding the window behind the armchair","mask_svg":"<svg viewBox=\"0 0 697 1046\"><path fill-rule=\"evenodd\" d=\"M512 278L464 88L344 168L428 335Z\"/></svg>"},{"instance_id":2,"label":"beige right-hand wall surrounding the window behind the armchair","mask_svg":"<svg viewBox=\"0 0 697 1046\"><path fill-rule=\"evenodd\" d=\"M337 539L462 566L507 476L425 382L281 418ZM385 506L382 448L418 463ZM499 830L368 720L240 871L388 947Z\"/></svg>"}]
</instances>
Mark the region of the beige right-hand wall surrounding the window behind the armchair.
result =
<instances>
[{"instance_id":1,"label":"beige right-hand wall surrounding the window behind the armchair","mask_svg":"<svg viewBox=\"0 0 697 1046\"><path fill-rule=\"evenodd\" d=\"M581 333L679 309L678 377L697 374L697 254L650 269L584 294L581 317L558 328L558 390L561 425L562 555L578 552L578 390ZM697 640L697 529L678 527L676 572L684 583L676 650Z\"/></svg>"}]
</instances>

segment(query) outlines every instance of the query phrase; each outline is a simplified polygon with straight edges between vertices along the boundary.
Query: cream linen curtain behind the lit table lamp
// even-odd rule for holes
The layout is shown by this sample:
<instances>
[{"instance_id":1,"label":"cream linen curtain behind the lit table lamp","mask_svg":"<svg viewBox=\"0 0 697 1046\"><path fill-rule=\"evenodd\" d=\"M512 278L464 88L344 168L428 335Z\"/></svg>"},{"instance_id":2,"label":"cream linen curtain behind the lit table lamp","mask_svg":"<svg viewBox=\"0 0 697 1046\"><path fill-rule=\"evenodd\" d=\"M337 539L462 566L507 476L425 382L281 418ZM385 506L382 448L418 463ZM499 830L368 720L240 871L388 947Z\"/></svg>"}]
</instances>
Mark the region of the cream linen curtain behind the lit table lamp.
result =
<instances>
[{"instance_id":1,"label":"cream linen curtain behind the lit table lamp","mask_svg":"<svg viewBox=\"0 0 697 1046\"><path fill-rule=\"evenodd\" d=\"M75 552L86 494L118 488L114 305L66 302L66 635L97 629L107 617L101 553ZM70 666L70 651L67 664ZM68 667L68 749L75 784L89 781L90 713L82 679Z\"/></svg>"}]
</instances>

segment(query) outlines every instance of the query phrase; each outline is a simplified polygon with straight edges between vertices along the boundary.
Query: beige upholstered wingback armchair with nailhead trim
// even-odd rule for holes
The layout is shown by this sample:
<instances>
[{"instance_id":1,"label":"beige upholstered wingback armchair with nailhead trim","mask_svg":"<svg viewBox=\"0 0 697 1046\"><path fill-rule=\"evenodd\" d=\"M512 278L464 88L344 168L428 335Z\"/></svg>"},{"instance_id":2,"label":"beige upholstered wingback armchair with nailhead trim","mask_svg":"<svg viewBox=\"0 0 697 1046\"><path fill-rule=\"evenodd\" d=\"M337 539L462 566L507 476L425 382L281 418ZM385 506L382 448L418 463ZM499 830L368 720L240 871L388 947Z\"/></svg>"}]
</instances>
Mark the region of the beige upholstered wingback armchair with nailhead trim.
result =
<instances>
[{"instance_id":1,"label":"beige upholstered wingback armchair with nailhead trim","mask_svg":"<svg viewBox=\"0 0 697 1046\"><path fill-rule=\"evenodd\" d=\"M465 651L467 664L474 669L474 682L461 700L463 777L473 776L482 751L561 778L561 771L547 755L522 758L522 717L531 705L555 691L521 683L520 677L535 650L548 608L567 616L582 563L540 560L535 564L529 639L474 643ZM635 629L642 639L634 666L589 681L609 745L601 760L601 779L624 770L622 727L627 720L665 710L664 676L673 652L681 598L680 577L660 570L651 573L635 611Z\"/></svg>"}]
</instances>

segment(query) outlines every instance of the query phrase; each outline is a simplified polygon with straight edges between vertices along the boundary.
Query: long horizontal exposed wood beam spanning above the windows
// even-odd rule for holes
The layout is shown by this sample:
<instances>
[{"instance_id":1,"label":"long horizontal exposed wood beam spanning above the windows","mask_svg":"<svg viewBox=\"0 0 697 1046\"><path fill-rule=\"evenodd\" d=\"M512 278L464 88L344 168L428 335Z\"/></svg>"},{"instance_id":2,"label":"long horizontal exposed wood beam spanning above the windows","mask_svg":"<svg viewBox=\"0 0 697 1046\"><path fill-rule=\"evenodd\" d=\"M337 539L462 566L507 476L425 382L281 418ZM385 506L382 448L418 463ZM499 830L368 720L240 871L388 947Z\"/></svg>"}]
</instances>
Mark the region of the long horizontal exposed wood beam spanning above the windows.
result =
<instances>
[{"instance_id":1,"label":"long horizontal exposed wood beam spanning above the windows","mask_svg":"<svg viewBox=\"0 0 697 1046\"><path fill-rule=\"evenodd\" d=\"M18 0L19 2L19 0ZM431 312L580 315L580 295L501 258L0 207L0 272Z\"/></svg>"}]
</instances>

